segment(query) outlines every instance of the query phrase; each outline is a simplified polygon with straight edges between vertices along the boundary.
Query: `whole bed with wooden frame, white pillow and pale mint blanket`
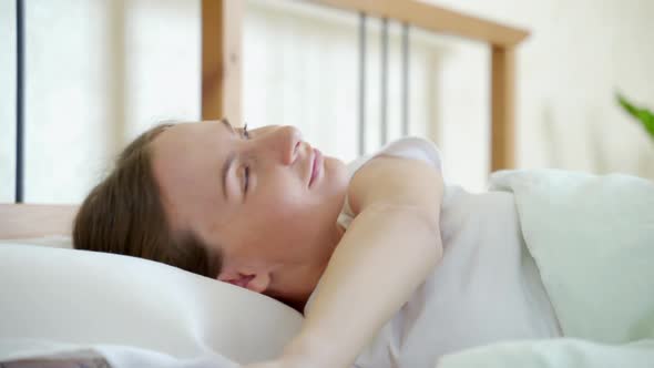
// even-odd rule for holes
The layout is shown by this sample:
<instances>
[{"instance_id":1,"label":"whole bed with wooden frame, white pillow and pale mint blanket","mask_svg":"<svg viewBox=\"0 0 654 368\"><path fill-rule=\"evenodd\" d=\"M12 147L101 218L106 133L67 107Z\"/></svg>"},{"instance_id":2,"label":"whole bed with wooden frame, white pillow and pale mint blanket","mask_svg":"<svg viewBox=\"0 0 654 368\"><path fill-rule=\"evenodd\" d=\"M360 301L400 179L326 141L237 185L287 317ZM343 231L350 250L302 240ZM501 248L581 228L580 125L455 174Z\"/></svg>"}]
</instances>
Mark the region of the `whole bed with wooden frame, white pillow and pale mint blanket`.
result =
<instances>
[{"instance_id":1,"label":"whole bed with wooden frame, white pillow and pale mint blanket","mask_svg":"<svg viewBox=\"0 0 654 368\"><path fill-rule=\"evenodd\" d=\"M420 27L487 42L490 167L514 166L514 50L527 31L421 1L311 2L359 12L362 21L395 19L406 30ZM205 120L241 121L242 17L239 0L202 2ZM20 111L20 75L18 81ZM22 129L18 132L20 142ZM71 249L76 207L21 203L17 146L17 204L0 204L1 366L236 367L275 357L299 329L302 315L265 296L163 264ZM541 262L568 338L482 346L446 356L438 367L652 367L654 183L558 171L501 171L490 182L517 197L524 237ZM606 226L597 227L597 221ZM605 252L597 251L601 242L609 243ZM560 257L572 247L571 257ZM627 266L615 277L619 257ZM589 283L596 277L603 282Z\"/></svg>"}]
</instances>

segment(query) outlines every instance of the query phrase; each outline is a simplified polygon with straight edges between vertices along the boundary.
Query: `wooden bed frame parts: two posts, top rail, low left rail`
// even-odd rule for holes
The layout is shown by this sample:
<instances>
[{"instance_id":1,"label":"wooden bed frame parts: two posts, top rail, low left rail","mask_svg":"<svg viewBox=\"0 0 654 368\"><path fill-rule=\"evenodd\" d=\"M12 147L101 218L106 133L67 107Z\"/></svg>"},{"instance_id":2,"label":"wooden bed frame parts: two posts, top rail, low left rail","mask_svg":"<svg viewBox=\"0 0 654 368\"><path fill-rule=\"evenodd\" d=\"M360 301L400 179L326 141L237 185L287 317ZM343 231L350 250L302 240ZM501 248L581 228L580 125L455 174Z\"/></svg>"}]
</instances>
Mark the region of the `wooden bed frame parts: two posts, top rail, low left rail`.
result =
<instances>
[{"instance_id":1,"label":"wooden bed frame parts: two posts, top rail, low left rail","mask_svg":"<svg viewBox=\"0 0 654 368\"><path fill-rule=\"evenodd\" d=\"M307 1L488 43L491 171L514 167L514 50L529 32L415 0ZM243 8L243 0L202 1L203 120L241 121ZM0 204L0 238L70 235L75 212L74 205Z\"/></svg>"}]
</instances>

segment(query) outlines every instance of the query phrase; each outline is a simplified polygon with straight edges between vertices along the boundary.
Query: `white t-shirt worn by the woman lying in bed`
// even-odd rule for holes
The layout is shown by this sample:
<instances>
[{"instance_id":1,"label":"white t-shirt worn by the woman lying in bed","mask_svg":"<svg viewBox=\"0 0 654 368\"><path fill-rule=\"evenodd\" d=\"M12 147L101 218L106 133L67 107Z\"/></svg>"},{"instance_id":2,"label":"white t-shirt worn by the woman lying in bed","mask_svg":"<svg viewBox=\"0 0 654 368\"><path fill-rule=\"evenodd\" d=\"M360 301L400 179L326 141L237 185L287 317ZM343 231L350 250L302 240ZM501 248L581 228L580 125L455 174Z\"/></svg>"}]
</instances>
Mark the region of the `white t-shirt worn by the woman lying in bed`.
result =
<instances>
[{"instance_id":1,"label":"white t-shirt worn by the woman lying in bed","mask_svg":"<svg viewBox=\"0 0 654 368\"><path fill-rule=\"evenodd\" d=\"M421 160L442 172L433 143L406 137L350 163L350 178L377 155ZM347 229L351 221L346 200L338 222ZM511 193L472 194L446 184L440 231L442 260L356 367L433 367L440 356L474 346L561 336Z\"/></svg>"}]
</instances>

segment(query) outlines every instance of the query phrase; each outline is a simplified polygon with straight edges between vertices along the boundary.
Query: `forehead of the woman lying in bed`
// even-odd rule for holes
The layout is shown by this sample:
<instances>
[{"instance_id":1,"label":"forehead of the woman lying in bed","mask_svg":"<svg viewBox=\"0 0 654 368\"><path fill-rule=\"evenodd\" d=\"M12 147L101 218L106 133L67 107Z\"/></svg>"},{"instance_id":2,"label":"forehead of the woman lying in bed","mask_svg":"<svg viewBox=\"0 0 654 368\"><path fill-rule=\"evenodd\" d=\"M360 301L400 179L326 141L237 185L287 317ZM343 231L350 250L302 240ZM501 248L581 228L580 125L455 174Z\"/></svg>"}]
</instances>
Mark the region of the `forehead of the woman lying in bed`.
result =
<instances>
[{"instance_id":1,"label":"forehead of the woman lying in bed","mask_svg":"<svg viewBox=\"0 0 654 368\"><path fill-rule=\"evenodd\" d=\"M185 123L152 142L152 168L173 228L187 228L222 205L219 172L228 154L222 123Z\"/></svg>"}]
</instances>

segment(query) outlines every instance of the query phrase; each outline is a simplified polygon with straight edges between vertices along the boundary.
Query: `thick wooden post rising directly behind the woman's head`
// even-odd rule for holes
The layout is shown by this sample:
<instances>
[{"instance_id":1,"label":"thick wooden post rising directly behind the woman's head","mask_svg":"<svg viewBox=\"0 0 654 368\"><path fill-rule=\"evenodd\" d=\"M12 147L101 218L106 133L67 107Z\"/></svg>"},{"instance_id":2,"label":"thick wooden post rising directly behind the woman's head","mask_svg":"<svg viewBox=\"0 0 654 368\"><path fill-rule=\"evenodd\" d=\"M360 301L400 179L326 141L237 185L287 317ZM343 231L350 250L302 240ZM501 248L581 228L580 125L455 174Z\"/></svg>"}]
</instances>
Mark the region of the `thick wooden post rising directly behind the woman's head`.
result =
<instances>
[{"instance_id":1,"label":"thick wooden post rising directly behind the woman's head","mask_svg":"<svg viewBox=\"0 0 654 368\"><path fill-rule=\"evenodd\" d=\"M243 0L202 1L202 119L242 124Z\"/></svg>"}]
</instances>

